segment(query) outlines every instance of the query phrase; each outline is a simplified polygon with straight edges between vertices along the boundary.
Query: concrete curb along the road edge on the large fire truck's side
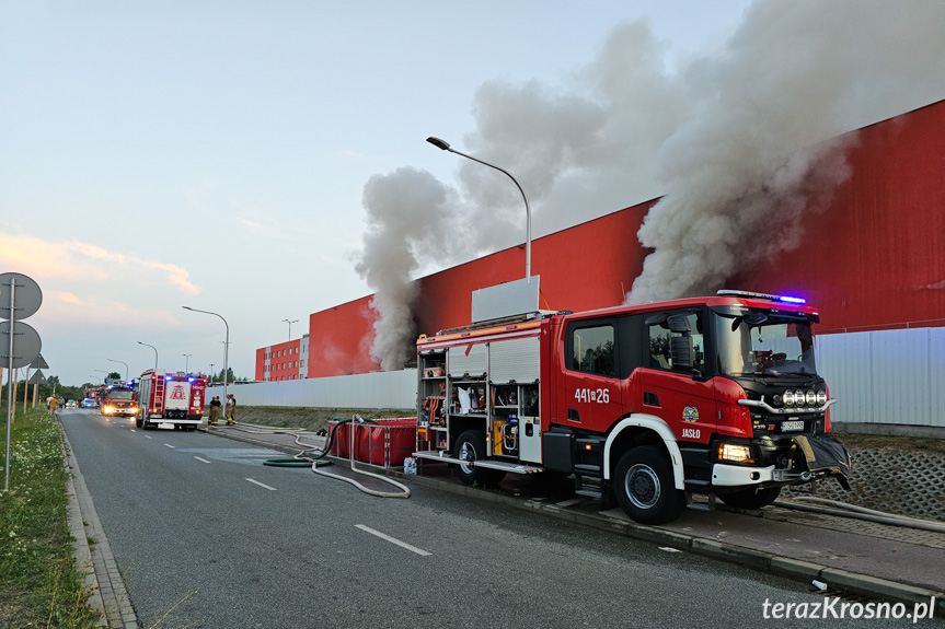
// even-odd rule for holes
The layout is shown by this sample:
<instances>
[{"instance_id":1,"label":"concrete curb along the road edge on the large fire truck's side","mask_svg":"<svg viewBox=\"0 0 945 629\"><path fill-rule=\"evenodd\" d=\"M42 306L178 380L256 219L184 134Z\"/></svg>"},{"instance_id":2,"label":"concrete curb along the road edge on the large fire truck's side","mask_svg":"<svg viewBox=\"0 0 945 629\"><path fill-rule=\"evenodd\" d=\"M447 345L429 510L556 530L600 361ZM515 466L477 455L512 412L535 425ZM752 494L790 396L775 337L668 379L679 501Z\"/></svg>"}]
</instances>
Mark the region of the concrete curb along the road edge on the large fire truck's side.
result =
<instances>
[{"instance_id":1,"label":"concrete curb along the road edge on the large fire truck's side","mask_svg":"<svg viewBox=\"0 0 945 629\"><path fill-rule=\"evenodd\" d=\"M274 444L272 442L245 438L238 434L210 430L206 430L206 432L215 434L217 436L232 439L234 441L264 445L270 450L285 452L287 454L298 454L300 452L300 449L293 449L281 444ZM347 462L347 458L339 459L332 456L330 456L329 458L332 458L338 463ZM516 499L508 496L502 496L498 493L486 491L483 489L466 487L464 485L458 486L451 482L445 482L435 478L406 475L392 469L372 468L371 471L392 476L394 478L406 480L414 485L429 487L449 493L465 496L484 502L496 502L506 506L510 506L512 509L531 511L548 517L555 517L557 520L574 522L575 524L581 526L589 526L591 528L596 528L606 533L622 535L624 537L639 539L643 541L652 541L660 546L670 546L679 550L688 550L695 555L702 555L704 557L712 557L713 559L721 559L723 561L738 563L739 566L745 566L747 568L759 570L761 572L770 572L772 574L777 574L779 576L785 576L788 579L804 581L807 583L810 583L814 580L823 581L829 585L835 586L839 590L869 596L873 598L881 598L887 601L892 599L895 602L912 604L927 604L930 598L934 597L938 617L945 616L945 592L935 592L931 590L925 590L923 587L908 585L906 583L897 583L895 581L878 579L868 574L857 574L854 572L840 570L838 568L829 568L826 566L819 566L817 563L792 559L790 557L771 555L768 552L762 552L760 550L752 550L750 548L744 548L741 546L725 544L713 539L705 539L702 537L684 535L681 533L675 533L672 531L664 531L661 528L648 526L645 524L624 522L622 520L615 520L613 517L606 517L596 514L567 511L564 509L560 509L553 504L544 504L533 500Z\"/></svg>"}]
</instances>

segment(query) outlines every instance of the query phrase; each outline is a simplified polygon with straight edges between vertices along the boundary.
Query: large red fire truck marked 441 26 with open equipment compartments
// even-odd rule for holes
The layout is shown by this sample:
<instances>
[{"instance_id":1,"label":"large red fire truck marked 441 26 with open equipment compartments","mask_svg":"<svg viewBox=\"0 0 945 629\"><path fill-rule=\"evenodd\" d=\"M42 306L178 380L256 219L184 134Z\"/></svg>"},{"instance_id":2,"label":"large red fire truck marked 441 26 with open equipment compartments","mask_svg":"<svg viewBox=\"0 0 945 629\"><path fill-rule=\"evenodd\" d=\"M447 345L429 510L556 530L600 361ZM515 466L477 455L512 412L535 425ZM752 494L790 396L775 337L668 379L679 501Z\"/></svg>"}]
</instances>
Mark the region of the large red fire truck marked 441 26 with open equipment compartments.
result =
<instances>
[{"instance_id":1,"label":"large red fire truck marked 441 26 with open equipment compartments","mask_svg":"<svg viewBox=\"0 0 945 629\"><path fill-rule=\"evenodd\" d=\"M414 456L466 484L573 475L650 524L716 496L757 509L788 485L846 487L815 323L800 299L719 291L420 336Z\"/></svg>"}]
</instances>

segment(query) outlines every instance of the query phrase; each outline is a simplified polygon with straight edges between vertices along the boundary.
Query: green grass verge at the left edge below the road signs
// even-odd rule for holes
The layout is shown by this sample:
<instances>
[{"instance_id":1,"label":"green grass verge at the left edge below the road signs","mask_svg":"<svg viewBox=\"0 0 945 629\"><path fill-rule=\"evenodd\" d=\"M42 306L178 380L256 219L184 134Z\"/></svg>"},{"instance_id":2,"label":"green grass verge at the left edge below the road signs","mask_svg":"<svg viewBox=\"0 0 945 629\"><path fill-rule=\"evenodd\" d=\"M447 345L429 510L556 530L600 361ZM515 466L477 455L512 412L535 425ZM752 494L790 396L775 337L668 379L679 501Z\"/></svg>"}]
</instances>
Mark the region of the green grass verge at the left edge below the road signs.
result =
<instances>
[{"instance_id":1,"label":"green grass verge at the left edge below the road signs","mask_svg":"<svg viewBox=\"0 0 945 629\"><path fill-rule=\"evenodd\" d=\"M3 413L0 462L5 433ZM16 413L10 436L10 489L0 486L0 627L94 627L67 524L62 429L35 409Z\"/></svg>"}]
</instances>

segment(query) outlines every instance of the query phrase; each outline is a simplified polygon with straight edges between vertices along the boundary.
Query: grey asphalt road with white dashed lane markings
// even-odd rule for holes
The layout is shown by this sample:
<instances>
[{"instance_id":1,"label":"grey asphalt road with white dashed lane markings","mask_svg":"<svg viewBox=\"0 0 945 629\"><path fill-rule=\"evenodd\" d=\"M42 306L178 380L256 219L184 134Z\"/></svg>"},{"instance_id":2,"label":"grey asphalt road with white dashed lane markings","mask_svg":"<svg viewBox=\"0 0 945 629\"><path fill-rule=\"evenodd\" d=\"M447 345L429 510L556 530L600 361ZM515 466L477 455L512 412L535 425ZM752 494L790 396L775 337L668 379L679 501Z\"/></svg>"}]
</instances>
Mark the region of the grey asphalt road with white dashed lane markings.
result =
<instances>
[{"instance_id":1,"label":"grey asphalt road with white dashed lane markings","mask_svg":"<svg viewBox=\"0 0 945 629\"><path fill-rule=\"evenodd\" d=\"M910 624L765 621L765 601L823 598L425 487L408 500L370 497L307 468L263 466L284 455L201 432L143 431L84 409L60 417L145 627Z\"/></svg>"}]
</instances>

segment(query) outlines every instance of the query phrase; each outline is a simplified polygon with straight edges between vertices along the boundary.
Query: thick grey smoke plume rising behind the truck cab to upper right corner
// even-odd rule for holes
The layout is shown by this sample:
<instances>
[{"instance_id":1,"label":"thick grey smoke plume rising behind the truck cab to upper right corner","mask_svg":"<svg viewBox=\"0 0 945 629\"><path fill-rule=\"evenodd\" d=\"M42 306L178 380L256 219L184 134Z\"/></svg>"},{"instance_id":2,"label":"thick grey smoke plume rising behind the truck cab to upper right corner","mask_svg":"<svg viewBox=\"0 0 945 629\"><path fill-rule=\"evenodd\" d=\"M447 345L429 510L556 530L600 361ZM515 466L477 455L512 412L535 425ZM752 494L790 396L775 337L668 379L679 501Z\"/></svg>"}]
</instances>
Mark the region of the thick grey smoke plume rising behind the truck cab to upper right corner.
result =
<instances>
[{"instance_id":1,"label":"thick grey smoke plume rising behind the truck cab to upper right corner","mask_svg":"<svg viewBox=\"0 0 945 629\"><path fill-rule=\"evenodd\" d=\"M627 302L712 292L797 246L802 214L850 174L850 120L902 113L890 101L930 78L911 105L945 95L943 26L942 2L756 3L725 55L690 69L699 107L660 147L665 197L638 234L655 251Z\"/></svg>"}]
</instances>

